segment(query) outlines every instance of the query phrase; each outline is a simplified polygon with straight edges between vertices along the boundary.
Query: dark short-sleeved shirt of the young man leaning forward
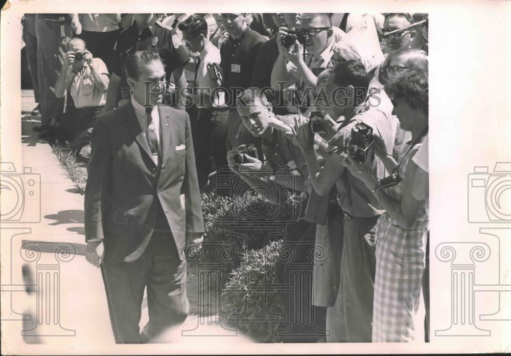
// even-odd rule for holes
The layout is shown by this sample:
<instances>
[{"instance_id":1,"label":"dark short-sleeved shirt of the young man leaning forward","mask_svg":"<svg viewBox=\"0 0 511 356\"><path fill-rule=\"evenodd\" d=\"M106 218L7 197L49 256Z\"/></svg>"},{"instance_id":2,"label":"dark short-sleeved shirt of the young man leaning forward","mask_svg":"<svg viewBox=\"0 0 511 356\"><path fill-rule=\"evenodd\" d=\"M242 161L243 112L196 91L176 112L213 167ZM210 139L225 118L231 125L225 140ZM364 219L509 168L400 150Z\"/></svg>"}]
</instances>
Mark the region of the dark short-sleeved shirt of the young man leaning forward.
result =
<instances>
[{"instance_id":1,"label":"dark short-sleeved shirt of the young man leaning forward","mask_svg":"<svg viewBox=\"0 0 511 356\"><path fill-rule=\"evenodd\" d=\"M307 178L307 163L300 148L294 145L282 131L272 130L270 139L262 139L263 152L268 166L273 173L284 168L286 173L301 175Z\"/></svg>"}]
</instances>

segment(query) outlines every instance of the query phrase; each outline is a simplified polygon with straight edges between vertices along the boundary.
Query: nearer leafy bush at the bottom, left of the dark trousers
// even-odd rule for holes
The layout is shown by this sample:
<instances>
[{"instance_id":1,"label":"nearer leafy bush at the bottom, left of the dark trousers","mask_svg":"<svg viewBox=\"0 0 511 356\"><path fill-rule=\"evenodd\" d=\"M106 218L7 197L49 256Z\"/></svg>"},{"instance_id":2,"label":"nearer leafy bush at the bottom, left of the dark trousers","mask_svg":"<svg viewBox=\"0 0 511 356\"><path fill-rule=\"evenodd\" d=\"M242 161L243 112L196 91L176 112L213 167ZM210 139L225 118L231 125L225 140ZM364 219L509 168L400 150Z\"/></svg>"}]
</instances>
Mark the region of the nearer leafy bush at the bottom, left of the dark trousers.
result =
<instances>
[{"instance_id":1,"label":"nearer leafy bush at the bottom, left of the dark trousers","mask_svg":"<svg viewBox=\"0 0 511 356\"><path fill-rule=\"evenodd\" d=\"M275 333L283 326L278 314L284 313L284 305L280 293L273 290L278 285L274 269L281 242L248 251L222 293L225 325L257 342L278 342Z\"/></svg>"}]
</instances>

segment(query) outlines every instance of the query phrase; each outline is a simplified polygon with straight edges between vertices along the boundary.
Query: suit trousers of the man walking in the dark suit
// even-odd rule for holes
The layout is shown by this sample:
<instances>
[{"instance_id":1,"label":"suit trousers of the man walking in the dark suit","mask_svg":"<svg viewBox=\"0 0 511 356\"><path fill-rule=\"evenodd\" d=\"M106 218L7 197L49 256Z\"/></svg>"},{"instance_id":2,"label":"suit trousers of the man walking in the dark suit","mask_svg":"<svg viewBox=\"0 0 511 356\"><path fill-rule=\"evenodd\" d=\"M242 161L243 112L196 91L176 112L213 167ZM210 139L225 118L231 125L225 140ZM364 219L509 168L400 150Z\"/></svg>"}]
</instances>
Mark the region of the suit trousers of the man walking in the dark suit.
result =
<instances>
[{"instance_id":1,"label":"suit trousers of the man walking in the dark suit","mask_svg":"<svg viewBox=\"0 0 511 356\"><path fill-rule=\"evenodd\" d=\"M103 261L101 270L116 343L148 342L187 318L186 267L170 229L154 232L134 262ZM138 324L146 286L149 322L141 333Z\"/></svg>"}]
</instances>

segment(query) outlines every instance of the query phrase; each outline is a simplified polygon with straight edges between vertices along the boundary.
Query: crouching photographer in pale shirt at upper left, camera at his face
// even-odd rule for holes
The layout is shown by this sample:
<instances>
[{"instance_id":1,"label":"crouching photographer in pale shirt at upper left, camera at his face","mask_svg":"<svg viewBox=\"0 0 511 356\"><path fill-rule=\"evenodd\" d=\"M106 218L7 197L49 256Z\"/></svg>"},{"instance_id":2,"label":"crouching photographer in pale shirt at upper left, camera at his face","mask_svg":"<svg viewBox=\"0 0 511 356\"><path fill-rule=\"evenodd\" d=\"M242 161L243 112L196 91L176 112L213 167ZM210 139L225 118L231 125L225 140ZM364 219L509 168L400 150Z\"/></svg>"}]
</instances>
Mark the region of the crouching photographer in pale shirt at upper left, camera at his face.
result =
<instances>
[{"instance_id":1,"label":"crouching photographer in pale shirt at upper left, camera at his face","mask_svg":"<svg viewBox=\"0 0 511 356\"><path fill-rule=\"evenodd\" d=\"M102 112L109 75L105 63L93 58L85 41L78 37L67 42L65 62L55 84L55 96L63 98L68 92L72 100L57 122L60 138L73 141Z\"/></svg>"}]
</instances>

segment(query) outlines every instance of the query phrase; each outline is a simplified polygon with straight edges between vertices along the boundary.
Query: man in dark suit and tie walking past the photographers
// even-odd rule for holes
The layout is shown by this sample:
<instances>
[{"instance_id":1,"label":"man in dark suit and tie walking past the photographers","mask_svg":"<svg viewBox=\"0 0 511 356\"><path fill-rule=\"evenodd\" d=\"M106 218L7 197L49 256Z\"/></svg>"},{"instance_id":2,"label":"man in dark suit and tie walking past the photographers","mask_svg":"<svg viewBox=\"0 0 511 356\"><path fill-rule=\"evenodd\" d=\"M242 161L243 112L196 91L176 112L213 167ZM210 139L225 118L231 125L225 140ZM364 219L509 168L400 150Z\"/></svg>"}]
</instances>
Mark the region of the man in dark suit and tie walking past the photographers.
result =
<instances>
[{"instance_id":1,"label":"man in dark suit and tie walking past the photographers","mask_svg":"<svg viewBox=\"0 0 511 356\"><path fill-rule=\"evenodd\" d=\"M131 101L98 118L92 132L86 259L101 265L115 341L141 343L186 318L183 248L200 242L204 225L190 120L160 105L159 55L137 51L125 71ZM149 323L140 333L146 286Z\"/></svg>"}]
</instances>

